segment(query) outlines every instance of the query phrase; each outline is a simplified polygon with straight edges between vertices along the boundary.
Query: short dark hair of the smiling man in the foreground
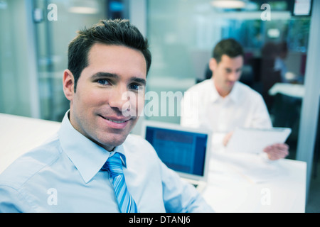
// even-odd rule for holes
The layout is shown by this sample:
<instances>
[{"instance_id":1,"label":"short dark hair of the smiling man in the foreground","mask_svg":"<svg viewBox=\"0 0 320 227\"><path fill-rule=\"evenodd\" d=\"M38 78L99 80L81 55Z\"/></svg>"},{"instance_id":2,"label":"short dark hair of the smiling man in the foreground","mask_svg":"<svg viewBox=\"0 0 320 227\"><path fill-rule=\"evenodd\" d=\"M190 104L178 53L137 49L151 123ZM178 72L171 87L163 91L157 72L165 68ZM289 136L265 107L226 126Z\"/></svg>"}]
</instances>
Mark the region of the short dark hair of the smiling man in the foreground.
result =
<instances>
[{"instance_id":1,"label":"short dark hair of the smiling man in the foreground","mask_svg":"<svg viewBox=\"0 0 320 227\"><path fill-rule=\"evenodd\" d=\"M151 65L151 52L148 40L133 26L129 20L103 20L91 28L78 31L78 35L70 42L68 48L68 70L75 77L75 86L80 74L88 66L88 54L92 45L102 43L106 45L122 45L139 50L146 60L146 74Z\"/></svg>"}]
</instances>

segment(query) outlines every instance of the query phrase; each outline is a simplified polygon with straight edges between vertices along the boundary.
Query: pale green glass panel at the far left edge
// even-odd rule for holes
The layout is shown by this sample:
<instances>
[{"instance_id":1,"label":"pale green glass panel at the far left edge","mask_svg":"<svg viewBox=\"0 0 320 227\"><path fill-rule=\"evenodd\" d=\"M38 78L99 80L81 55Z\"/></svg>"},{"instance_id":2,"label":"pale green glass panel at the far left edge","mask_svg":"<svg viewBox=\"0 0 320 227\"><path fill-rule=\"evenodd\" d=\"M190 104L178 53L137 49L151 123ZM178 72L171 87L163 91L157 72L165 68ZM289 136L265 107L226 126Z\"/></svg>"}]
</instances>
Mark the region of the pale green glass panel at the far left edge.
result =
<instances>
[{"instance_id":1,"label":"pale green glass panel at the far left edge","mask_svg":"<svg viewBox=\"0 0 320 227\"><path fill-rule=\"evenodd\" d=\"M31 116L26 3L0 1L0 112Z\"/></svg>"}]
</instances>

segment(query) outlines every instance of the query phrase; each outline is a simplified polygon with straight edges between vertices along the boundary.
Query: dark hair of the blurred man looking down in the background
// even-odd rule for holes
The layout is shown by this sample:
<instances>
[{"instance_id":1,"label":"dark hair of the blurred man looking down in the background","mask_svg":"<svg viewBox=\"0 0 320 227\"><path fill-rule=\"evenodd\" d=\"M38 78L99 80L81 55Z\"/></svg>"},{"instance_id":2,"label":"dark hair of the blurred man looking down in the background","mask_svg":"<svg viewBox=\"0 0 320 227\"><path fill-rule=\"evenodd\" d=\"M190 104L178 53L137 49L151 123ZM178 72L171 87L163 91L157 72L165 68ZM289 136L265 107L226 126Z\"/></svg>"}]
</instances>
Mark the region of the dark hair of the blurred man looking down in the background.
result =
<instances>
[{"instance_id":1,"label":"dark hair of the blurred man looking down in the background","mask_svg":"<svg viewBox=\"0 0 320 227\"><path fill-rule=\"evenodd\" d=\"M241 55L244 57L244 52L242 46L238 41L233 38L228 38L221 40L213 50L213 58L219 63L221 61L222 55L227 55L228 57L238 57Z\"/></svg>"}]
</instances>

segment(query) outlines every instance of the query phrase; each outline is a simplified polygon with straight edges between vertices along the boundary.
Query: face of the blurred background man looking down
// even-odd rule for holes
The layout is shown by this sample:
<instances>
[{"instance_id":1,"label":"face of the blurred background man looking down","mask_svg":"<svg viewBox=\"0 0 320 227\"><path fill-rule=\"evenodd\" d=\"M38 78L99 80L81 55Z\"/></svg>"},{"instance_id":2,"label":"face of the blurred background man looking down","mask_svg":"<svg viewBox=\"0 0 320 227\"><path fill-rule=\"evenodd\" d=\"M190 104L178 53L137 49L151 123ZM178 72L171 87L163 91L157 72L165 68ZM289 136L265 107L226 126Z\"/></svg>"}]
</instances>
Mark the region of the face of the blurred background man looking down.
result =
<instances>
[{"instance_id":1,"label":"face of the blurred background man looking down","mask_svg":"<svg viewBox=\"0 0 320 227\"><path fill-rule=\"evenodd\" d=\"M221 61L210 60L210 70L213 71L215 87L220 96L227 96L233 89L233 85L240 79L243 66L243 57L228 57L222 55Z\"/></svg>"}]
</instances>

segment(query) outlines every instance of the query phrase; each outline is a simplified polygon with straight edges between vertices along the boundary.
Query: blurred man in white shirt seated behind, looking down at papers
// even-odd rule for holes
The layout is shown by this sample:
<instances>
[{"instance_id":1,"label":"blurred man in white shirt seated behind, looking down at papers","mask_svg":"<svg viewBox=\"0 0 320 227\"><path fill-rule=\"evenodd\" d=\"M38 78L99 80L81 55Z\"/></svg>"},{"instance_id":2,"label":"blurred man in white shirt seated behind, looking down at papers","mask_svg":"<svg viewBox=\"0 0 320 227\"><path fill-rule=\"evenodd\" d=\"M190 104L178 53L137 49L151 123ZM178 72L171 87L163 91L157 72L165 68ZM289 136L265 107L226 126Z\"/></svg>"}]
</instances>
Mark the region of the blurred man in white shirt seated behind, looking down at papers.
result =
<instances>
[{"instance_id":1,"label":"blurred man in white shirt seated behind, looking down at papers","mask_svg":"<svg viewBox=\"0 0 320 227\"><path fill-rule=\"evenodd\" d=\"M272 123L262 96L238 80L244 62L241 45L233 39L221 40L213 50L209 67L211 79L188 89L198 98L181 102L181 125L208 128L215 133L227 133L223 139L228 143L236 127L271 128ZM265 148L270 160L286 157L287 144L274 144Z\"/></svg>"}]
</instances>

